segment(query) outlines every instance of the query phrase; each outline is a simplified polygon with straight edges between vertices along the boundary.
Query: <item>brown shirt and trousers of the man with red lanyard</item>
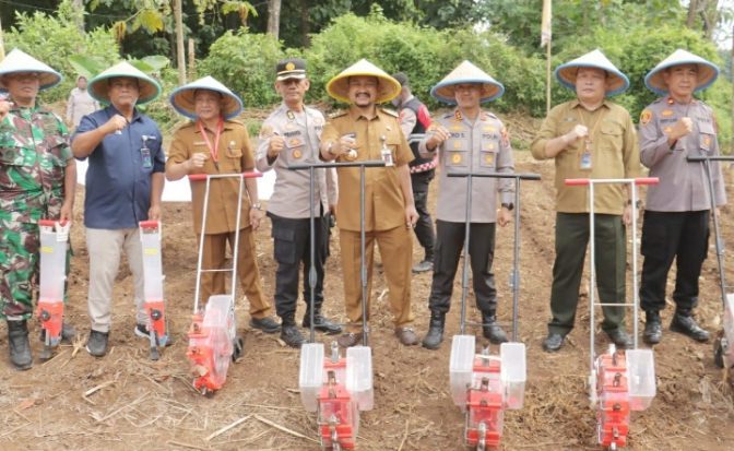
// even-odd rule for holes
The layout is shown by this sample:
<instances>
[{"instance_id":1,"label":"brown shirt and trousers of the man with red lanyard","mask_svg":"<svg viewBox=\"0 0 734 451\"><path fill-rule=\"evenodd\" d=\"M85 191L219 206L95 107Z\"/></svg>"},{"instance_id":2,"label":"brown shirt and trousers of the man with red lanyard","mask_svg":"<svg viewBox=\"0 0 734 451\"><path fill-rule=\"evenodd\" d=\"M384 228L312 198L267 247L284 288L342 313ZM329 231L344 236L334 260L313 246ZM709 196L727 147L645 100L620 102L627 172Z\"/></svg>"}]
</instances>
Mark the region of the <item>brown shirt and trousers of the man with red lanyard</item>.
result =
<instances>
[{"instance_id":1,"label":"brown shirt and trousers of the man with red lanyard","mask_svg":"<svg viewBox=\"0 0 734 451\"><path fill-rule=\"evenodd\" d=\"M209 142L214 145L215 130L204 126ZM166 168L183 163L194 153L204 153L209 158L203 167L194 168L191 174L241 174L254 168L254 157L247 134L247 128L238 121L225 120L217 147L218 169L209 152L209 146L199 129L199 122L182 126L174 134ZM191 213L197 239L201 239L201 224L204 210L205 181L191 181ZM222 269L226 259L226 242L234 248L237 230L237 202L239 179L212 179L209 191L206 230L202 269ZM254 232L250 227L250 201L242 193L240 212L239 249L237 252L237 274L242 290L250 301L250 316L254 319L270 317L270 305L260 286L260 270L256 261ZM225 293L225 273L204 273L201 277L201 299L206 301L211 295Z\"/></svg>"}]
</instances>

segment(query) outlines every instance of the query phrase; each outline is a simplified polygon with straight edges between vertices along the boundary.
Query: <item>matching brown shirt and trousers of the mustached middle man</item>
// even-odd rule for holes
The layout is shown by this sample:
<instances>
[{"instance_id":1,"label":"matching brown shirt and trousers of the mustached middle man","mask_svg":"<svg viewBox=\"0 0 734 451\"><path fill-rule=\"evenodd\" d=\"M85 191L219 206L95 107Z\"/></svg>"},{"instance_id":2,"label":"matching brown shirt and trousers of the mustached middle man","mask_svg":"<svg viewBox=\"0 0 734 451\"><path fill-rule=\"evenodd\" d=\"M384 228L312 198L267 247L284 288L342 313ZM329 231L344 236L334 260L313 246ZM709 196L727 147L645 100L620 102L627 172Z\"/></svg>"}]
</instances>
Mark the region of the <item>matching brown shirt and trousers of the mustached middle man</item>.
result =
<instances>
[{"instance_id":1,"label":"matching brown shirt and trousers of the mustached middle man","mask_svg":"<svg viewBox=\"0 0 734 451\"><path fill-rule=\"evenodd\" d=\"M384 145L392 151L394 166L365 169L365 262L367 265L367 314L370 311L372 261L375 241L382 256L384 275L390 290L390 309L394 314L395 328L413 324L411 310L411 265L413 261L413 237L406 227L405 201L400 186L398 166L410 163L414 157L405 141L398 115L377 109L368 120L352 106L332 115L321 133L322 142L338 141L342 135L353 134L357 142L357 161L381 159ZM344 155L339 163L346 162ZM363 322L360 266L360 221L359 221L359 168L338 168L339 174L339 227L342 249L344 298L350 323ZM358 333L362 327L347 328Z\"/></svg>"}]
</instances>

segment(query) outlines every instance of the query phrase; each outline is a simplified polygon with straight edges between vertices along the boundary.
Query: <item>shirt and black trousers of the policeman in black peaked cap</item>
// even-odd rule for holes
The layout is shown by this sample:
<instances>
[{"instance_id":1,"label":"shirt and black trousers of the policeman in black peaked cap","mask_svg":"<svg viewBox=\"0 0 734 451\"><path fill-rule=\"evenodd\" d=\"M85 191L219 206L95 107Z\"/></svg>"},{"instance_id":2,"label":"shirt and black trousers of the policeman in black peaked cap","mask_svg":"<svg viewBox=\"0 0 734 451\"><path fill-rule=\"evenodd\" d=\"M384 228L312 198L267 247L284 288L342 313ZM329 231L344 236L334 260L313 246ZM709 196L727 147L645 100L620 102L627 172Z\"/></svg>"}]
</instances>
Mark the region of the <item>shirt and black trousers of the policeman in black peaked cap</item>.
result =
<instances>
[{"instance_id":1,"label":"shirt and black trousers of the policeman in black peaked cap","mask_svg":"<svg viewBox=\"0 0 734 451\"><path fill-rule=\"evenodd\" d=\"M310 173L288 170L288 165L298 163L320 163L319 144L321 130L325 123L318 109L304 107L303 112L291 110L281 104L262 124L256 165L259 171L275 170L276 180L273 194L268 203L268 216L273 223L275 260L275 309L279 317L296 312L298 298L298 271L304 262L304 300L308 302L310 289L308 274L310 257ZM268 156L270 138L285 139L283 151L273 159ZM335 169L313 169L313 214L315 250L317 274L313 306L323 302L323 264L329 242L327 240L327 218L329 205L336 204L338 188ZM327 173L333 173L328 177Z\"/></svg>"}]
</instances>

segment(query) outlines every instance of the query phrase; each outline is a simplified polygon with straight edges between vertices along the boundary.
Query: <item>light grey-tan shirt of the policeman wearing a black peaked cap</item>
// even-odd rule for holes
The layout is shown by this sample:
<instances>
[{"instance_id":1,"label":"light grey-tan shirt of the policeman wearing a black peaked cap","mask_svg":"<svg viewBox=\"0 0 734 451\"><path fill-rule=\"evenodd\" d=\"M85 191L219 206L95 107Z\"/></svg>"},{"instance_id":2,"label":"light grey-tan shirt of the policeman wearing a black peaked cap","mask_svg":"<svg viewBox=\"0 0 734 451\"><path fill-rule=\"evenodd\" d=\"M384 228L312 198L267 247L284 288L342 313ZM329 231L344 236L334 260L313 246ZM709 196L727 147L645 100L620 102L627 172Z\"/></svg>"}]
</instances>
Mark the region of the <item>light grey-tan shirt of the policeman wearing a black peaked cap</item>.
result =
<instances>
[{"instance_id":1,"label":"light grey-tan shirt of the policeman wearing a black peaked cap","mask_svg":"<svg viewBox=\"0 0 734 451\"><path fill-rule=\"evenodd\" d=\"M275 187L268 202L269 212L294 219L310 217L310 171L288 170L288 165L323 163L319 157L319 144L324 122L318 109L305 107L304 114L298 115L283 103L262 123L254 162L261 173L275 170ZM285 145L275 159L269 162L268 147L273 135L283 137ZM328 171L333 174L327 177ZM318 217L319 203L322 211L328 212L329 204L336 204L339 189L335 168L319 168L313 173L313 212Z\"/></svg>"}]
</instances>

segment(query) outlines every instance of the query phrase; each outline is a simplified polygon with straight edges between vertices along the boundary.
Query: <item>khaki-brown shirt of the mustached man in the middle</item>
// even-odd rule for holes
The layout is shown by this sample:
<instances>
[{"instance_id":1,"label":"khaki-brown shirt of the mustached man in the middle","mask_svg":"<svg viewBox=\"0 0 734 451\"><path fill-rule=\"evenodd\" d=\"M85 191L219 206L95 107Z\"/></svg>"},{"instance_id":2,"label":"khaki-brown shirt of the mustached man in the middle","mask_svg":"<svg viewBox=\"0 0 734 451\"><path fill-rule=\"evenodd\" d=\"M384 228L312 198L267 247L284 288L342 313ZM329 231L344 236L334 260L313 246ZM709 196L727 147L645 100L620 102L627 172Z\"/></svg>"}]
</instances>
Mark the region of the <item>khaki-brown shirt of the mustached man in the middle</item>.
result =
<instances>
[{"instance_id":1,"label":"khaki-brown shirt of the mustached man in the middle","mask_svg":"<svg viewBox=\"0 0 734 451\"><path fill-rule=\"evenodd\" d=\"M323 142L333 142L344 134L356 133L357 161L381 159L381 135L392 151L393 166L365 168L365 230L390 230L405 226L405 200L400 186L398 166L413 161L413 152L400 129L398 114L377 108L368 120L352 106L331 115L321 133ZM338 163L347 162L341 155ZM359 232L359 167L340 167L339 227Z\"/></svg>"}]
</instances>

